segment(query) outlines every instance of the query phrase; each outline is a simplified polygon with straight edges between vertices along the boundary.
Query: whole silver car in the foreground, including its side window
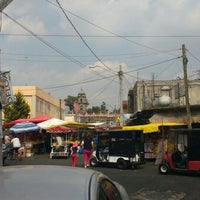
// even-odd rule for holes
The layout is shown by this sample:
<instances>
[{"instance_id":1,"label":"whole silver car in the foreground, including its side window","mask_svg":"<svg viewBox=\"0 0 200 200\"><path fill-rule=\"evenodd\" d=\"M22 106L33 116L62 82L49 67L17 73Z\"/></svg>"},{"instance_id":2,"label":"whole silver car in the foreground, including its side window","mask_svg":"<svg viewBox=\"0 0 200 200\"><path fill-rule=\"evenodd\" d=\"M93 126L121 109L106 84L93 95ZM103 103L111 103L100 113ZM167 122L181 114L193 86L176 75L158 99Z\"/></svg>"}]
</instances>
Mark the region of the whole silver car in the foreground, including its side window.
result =
<instances>
[{"instance_id":1,"label":"whole silver car in the foreground, including its side window","mask_svg":"<svg viewBox=\"0 0 200 200\"><path fill-rule=\"evenodd\" d=\"M0 169L3 200L129 200L124 187L101 172L78 167L19 165Z\"/></svg>"}]
</instances>

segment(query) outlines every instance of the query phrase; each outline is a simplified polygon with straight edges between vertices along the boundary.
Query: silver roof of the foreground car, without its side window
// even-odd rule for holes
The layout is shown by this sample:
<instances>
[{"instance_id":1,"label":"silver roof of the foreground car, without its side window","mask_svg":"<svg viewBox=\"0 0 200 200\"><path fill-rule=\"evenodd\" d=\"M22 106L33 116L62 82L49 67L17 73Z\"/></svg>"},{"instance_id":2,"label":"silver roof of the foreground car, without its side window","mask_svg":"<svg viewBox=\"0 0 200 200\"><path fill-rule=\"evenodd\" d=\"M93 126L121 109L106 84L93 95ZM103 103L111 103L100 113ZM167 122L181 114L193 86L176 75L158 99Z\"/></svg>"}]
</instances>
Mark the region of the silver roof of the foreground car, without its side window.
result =
<instances>
[{"instance_id":1,"label":"silver roof of the foreground car, without its side window","mask_svg":"<svg viewBox=\"0 0 200 200\"><path fill-rule=\"evenodd\" d=\"M4 200L88 199L93 170L64 166L12 166L0 169Z\"/></svg>"}]
</instances>

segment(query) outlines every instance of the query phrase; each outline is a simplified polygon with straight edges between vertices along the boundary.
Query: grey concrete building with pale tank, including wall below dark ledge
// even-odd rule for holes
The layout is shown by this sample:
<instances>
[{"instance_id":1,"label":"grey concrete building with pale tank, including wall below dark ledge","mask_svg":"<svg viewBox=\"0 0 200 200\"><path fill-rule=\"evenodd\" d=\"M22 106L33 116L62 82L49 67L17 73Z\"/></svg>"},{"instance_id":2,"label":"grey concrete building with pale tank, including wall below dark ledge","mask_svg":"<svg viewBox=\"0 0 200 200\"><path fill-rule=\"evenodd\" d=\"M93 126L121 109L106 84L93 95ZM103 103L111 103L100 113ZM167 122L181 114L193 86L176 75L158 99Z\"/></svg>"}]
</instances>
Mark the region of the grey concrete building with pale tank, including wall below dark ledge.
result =
<instances>
[{"instance_id":1,"label":"grey concrete building with pale tank, including wall below dark ledge","mask_svg":"<svg viewBox=\"0 0 200 200\"><path fill-rule=\"evenodd\" d=\"M200 122L200 80L188 81L192 122ZM186 123L183 79L137 81L128 93L128 112L142 113L153 123ZM141 114L140 114L141 116Z\"/></svg>"}]
</instances>

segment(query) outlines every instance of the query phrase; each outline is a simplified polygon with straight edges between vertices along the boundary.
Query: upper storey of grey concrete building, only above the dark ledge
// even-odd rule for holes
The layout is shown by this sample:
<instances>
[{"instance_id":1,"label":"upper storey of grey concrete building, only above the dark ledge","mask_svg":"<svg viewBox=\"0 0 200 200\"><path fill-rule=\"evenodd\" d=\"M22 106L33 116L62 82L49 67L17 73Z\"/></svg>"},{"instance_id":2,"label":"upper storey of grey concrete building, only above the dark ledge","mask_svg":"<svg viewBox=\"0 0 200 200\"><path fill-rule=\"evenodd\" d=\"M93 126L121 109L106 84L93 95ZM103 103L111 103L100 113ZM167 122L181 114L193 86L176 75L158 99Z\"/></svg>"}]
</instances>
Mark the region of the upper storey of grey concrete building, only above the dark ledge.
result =
<instances>
[{"instance_id":1,"label":"upper storey of grey concrete building, only above the dark ledge","mask_svg":"<svg viewBox=\"0 0 200 200\"><path fill-rule=\"evenodd\" d=\"M190 105L200 105L200 80L188 82ZM162 107L185 106L185 87L183 79L172 81L137 81L128 93L128 112Z\"/></svg>"}]
</instances>

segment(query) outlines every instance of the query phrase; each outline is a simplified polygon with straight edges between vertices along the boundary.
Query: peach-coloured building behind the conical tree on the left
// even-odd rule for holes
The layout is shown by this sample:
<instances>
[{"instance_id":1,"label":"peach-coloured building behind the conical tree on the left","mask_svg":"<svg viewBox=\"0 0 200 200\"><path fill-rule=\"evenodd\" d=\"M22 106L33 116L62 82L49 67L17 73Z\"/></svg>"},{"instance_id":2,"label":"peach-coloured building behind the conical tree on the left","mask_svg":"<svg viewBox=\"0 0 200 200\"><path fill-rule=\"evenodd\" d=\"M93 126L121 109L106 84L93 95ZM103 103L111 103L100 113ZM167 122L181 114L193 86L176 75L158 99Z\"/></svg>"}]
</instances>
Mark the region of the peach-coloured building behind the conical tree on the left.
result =
<instances>
[{"instance_id":1,"label":"peach-coloured building behind the conical tree on the left","mask_svg":"<svg viewBox=\"0 0 200 200\"><path fill-rule=\"evenodd\" d=\"M49 115L64 119L65 105L36 86L13 86L13 94L21 92L30 106L30 118Z\"/></svg>"}]
</instances>

